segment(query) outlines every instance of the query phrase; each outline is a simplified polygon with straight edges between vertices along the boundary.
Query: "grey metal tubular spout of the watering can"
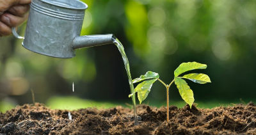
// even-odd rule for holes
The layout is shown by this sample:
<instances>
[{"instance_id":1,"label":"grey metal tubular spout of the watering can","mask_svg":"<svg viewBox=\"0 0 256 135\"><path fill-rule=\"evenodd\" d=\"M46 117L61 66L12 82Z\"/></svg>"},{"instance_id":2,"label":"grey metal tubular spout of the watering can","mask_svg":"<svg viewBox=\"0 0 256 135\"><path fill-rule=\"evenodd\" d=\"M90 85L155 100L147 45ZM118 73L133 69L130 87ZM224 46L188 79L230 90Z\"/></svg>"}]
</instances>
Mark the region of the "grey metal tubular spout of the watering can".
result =
<instances>
[{"instance_id":1,"label":"grey metal tubular spout of the watering can","mask_svg":"<svg viewBox=\"0 0 256 135\"><path fill-rule=\"evenodd\" d=\"M108 35L88 35L88 36L77 36L73 40L73 49L79 49L83 47L93 47L99 45L113 44L115 36L112 34Z\"/></svg>"}]
</instances>

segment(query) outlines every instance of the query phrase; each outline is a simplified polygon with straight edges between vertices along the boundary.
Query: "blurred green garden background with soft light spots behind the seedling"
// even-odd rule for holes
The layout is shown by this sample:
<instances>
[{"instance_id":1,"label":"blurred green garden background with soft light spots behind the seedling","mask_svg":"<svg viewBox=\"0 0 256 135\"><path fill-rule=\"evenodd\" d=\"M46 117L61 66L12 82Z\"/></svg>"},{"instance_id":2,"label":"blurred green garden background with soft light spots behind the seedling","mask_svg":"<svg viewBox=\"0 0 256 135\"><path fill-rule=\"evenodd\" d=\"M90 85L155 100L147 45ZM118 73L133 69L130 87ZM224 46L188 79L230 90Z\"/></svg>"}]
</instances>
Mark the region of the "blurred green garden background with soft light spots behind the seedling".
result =
<instances>
[{"instance_id":1,"label":"blurred green garden background with soft light spots behind the seedling","mask_svg":"<svg viewBox=\"0 0 256 135\"><path fill-rule=\"evenodd\" d=\"M256 102L256 1L254 0L83 0L88 4L81 35L113 33L124 45L133 78L148 70L166 83L182 62L211 84L188 84L200 107ZM24 33L26 24L20 28ZM0 111L35 101L52 108L131 106L124 63L115 45L76 51L61 60L35 54L13 36L0 38ZM72 92L72 83L75 92ZM145 104L165 106L156 83ZM184 106L175 85L170 105Z\"/></svg>"}]
</instances>

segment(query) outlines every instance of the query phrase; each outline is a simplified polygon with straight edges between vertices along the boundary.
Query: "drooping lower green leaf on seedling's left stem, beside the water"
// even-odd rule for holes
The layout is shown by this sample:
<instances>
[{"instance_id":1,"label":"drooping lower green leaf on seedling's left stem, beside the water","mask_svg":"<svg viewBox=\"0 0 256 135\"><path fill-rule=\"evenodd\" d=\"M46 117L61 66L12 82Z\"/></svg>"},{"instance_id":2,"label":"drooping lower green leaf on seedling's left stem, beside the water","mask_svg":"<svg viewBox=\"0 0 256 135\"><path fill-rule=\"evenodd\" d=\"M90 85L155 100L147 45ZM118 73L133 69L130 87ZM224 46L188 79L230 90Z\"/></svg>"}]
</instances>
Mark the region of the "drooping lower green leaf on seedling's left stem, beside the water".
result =
<instances>
[{"instance_id":1,"label":"drooping lower green leaf on seedling's left stem, beside the water","mask_svg":"<svg viewBox=\"0 0 256 135\"><path fill-rule=\"evenodd\" d=\"M143 100L148 97L148 93L157 79L151 79L148 81L143 81L142 83L138 84L135 88L135 92L138 92L138 99L140 100L140 104Z\"/></svg>"}]
</instances>

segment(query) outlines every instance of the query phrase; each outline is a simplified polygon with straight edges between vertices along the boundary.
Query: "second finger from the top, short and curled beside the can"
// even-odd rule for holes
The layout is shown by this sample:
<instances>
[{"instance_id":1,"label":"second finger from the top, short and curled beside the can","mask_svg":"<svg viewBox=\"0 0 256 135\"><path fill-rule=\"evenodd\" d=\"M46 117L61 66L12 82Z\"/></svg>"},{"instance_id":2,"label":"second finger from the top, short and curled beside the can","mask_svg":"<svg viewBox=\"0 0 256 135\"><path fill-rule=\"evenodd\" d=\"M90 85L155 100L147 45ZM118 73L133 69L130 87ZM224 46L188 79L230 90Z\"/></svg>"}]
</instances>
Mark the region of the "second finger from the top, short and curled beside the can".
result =
<instances>
[{"instance_id":1,"label":"second finger from the top, short and curled beside the can","mask_svg":"<svg viewBox=\"0 0 256 135\"><path fill-rule=\"evenodd\" d=\"M8 12L12 13L13 15L17 15L19 17L23 17L25 13L27 13L29 10L28 4L20 4L17 6L12 6Z\"/></svg>"}]
</instances>

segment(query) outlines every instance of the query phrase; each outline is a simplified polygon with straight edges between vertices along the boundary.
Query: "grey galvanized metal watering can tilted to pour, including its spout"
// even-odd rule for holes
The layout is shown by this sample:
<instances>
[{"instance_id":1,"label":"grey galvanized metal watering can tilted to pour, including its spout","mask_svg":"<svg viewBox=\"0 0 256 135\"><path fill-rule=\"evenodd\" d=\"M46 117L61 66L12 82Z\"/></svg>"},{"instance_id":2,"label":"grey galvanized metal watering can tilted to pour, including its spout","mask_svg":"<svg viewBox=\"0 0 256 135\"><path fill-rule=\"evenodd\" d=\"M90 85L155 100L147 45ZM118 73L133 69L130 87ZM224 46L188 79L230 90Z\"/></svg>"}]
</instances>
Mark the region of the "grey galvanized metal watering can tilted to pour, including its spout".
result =
<instances>
[{"instance_id":1,"label":"grey galvanized metal watering can tilted to pour, including its spout","mask_svg":"<svg viewBox=\"0 0 256 135\"><path fill-rule=\"evenodd\" d=\"M32 0L22 46L45 56L73 58L83 47L113 44L115 36L80 36L87 4L79 0Z\"/></svg>"}]
</instances>

